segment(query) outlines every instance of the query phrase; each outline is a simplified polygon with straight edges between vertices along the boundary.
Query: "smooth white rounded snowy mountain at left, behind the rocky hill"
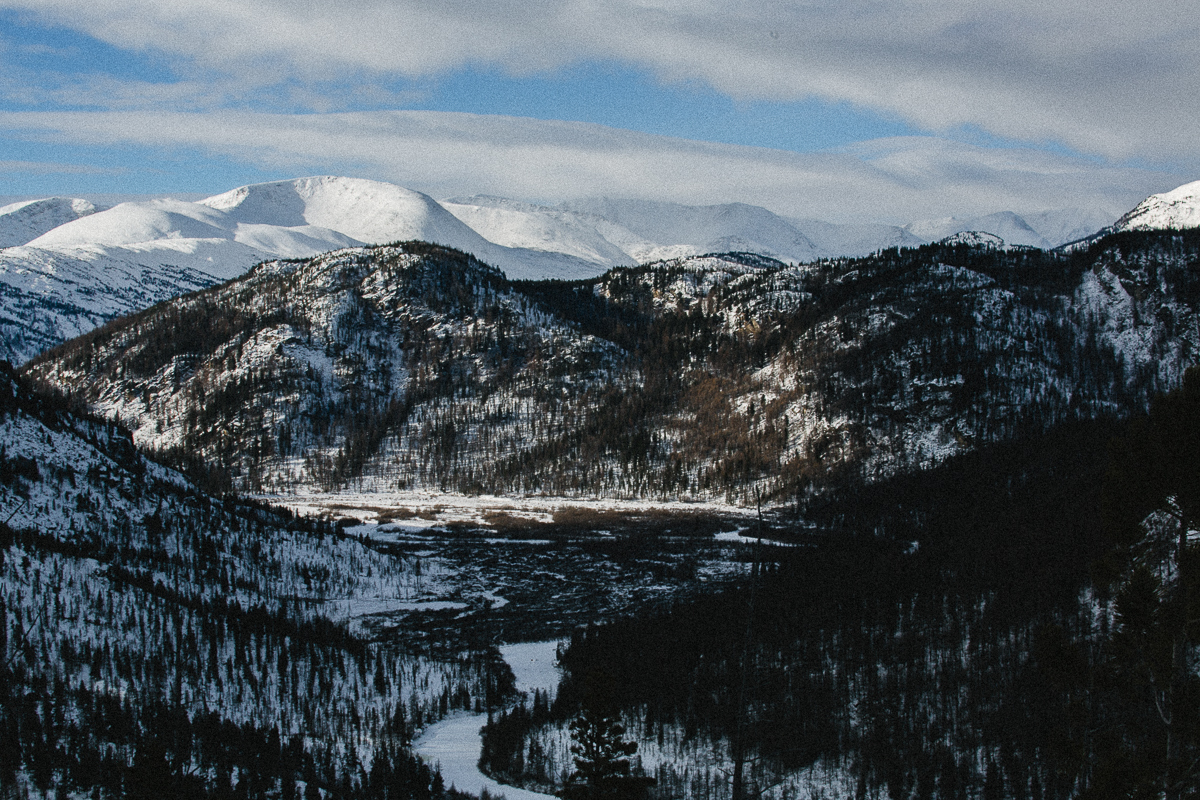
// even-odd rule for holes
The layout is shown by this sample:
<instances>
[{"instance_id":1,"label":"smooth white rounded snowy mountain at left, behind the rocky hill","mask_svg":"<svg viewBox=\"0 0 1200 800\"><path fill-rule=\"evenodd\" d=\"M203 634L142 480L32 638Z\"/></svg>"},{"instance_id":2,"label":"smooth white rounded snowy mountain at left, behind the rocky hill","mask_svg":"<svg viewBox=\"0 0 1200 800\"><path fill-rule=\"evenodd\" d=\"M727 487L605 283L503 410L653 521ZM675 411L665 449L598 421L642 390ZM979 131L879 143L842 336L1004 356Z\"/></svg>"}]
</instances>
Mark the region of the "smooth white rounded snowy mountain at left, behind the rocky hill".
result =
<instances>
[{"instance_id":1,"label":"smooth white rounded snowy mountain at left, behind the rocky hill","mask_svg":"<svg viewBox=\"0 0 1200 800\"><path fill-rule=\"evenodd\" d=\"M278 181L199 203L156 199L101 211L67 199L6 209L0 235L12 246L0 249L0 359L14 363L275 258L421 240L474 253L517 278L606 269L570 253L496 245L426 194L360 179Z\"/></svg>"}]
</instances>

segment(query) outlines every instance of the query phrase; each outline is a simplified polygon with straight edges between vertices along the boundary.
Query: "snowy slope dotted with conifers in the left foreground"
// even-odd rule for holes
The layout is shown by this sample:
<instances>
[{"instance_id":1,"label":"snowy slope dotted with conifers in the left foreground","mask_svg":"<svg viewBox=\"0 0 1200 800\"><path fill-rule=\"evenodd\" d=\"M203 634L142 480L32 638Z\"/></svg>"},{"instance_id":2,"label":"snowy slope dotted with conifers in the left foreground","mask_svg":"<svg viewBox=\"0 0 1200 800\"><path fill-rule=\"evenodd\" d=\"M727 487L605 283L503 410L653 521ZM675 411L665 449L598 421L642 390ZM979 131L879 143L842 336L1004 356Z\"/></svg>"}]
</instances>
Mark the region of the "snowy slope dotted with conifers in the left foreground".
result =
<instances>
[{"instance_id":1,"label":"snowy slope dotted with conifers in the left foreground","mask_svg":"<svg viewBox=\"0 0 1200 800\"><path fill-rule=\"evenodd\" d=\"M6 792L430 796L404 747L451 693L482 697L486 660L418 657L360 621L421 608L436 570L208 495L7 366L0 440Z\"/></svg>"}]
</instances>

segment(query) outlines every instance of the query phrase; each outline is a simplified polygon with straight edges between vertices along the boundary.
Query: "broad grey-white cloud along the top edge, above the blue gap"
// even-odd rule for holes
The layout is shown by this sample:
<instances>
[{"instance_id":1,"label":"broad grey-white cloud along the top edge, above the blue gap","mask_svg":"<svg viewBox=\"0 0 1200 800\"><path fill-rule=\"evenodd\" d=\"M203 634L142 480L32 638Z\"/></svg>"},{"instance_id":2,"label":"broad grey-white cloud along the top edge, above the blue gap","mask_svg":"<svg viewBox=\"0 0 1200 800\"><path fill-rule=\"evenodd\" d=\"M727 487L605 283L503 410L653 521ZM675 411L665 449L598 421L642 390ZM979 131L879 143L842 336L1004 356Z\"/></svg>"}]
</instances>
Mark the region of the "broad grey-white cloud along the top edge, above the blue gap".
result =
<instances>
[{"instance_id":1,"label":"broad grey-white cloud along the top edge, above the blue gap","mask_svg":"<svg viewBox=\"0 0 1200 800\"><path fill-rule=\"evenodd\" d=\"M616 59L738 98L1200 164L1200 16L1128 0L0 0L186 71L272 85Z\"/></svg>"}]
</instances>

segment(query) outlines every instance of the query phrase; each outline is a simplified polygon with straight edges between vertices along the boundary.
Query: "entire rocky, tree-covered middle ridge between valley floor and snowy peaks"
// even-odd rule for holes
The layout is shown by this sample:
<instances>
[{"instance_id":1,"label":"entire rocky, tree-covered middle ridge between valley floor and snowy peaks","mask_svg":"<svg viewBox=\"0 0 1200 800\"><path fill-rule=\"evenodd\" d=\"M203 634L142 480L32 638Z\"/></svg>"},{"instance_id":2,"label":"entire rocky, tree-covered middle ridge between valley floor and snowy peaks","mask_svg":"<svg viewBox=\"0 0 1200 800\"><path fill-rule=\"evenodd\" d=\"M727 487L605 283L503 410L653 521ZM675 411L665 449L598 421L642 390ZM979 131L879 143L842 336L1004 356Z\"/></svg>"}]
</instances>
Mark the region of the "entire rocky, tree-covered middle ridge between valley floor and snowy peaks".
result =
<instances>
[{"instance_id":1,"label":"entire rocky, tree-covered middle ridge between valley floor and snowy peaks","mask_svg":"<svg viewBox=\"0 0 1200 800\"><path fill-rule=\"evenodd\" d=\"M29 373L239 487L784 500L1057 421L1195 361L1196 235L510 282L446 248L264 264Z\"/></svg>"}]
</instances>

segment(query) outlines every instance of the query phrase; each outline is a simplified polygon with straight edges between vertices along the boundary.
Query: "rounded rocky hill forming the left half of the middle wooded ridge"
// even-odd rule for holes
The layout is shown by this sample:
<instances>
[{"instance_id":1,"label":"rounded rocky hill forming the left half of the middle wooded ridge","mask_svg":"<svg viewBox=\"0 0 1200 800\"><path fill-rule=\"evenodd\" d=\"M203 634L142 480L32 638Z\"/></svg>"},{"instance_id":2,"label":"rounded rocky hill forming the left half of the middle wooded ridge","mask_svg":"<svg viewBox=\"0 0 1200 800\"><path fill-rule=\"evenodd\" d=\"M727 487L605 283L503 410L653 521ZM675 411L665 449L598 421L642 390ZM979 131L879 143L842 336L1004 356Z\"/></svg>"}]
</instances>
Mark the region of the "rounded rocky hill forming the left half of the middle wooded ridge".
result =
<instances>
[{"instance_id":1,"label":"rounded rocky hill forming the left half of the middle wooded ridge","mask_svg":"<svg viewBox=\"0 0 1200 800\"><path fill-rule=\"evenodd\" d=\"M340 483L365 469L392 482L460 470L470 481L479 465L455 443L472 441L473 425L486 420L488 435L472 441L472 458L510 453L546 423L547 404L575 383L606 383L623 357L496 269L424 243L263 264L86 342L68 345L70 367L44 360L38 374L64 386L65 371L127 374L137 397L106 380L90 402L139 443L211 455L254 488ZM126 357L131 372L118 366ZM433 459L420 444L431 437Z\"/></svg>"}]
</instances>

